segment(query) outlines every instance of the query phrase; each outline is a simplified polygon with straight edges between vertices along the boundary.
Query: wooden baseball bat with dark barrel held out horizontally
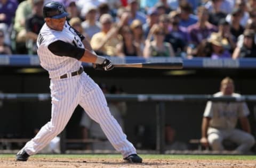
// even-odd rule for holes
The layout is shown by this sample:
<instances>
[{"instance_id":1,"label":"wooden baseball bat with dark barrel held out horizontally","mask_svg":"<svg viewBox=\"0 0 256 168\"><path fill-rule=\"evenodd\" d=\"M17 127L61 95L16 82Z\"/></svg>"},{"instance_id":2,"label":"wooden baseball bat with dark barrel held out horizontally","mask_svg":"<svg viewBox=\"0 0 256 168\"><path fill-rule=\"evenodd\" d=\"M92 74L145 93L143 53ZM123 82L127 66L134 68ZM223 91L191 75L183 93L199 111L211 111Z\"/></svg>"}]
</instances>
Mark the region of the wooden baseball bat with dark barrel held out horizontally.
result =
<instances>
[{"instance_id":1,"label":"wooden baseball bat with dark barrel held out horizontally","mask_svg":"<svg viewBox=\"0 0 256 168\"><path fill-rule=\"evenodd\" d=\"M182 69L182 62L114 64L118 68Z\"/></svg>"}]
</instances>

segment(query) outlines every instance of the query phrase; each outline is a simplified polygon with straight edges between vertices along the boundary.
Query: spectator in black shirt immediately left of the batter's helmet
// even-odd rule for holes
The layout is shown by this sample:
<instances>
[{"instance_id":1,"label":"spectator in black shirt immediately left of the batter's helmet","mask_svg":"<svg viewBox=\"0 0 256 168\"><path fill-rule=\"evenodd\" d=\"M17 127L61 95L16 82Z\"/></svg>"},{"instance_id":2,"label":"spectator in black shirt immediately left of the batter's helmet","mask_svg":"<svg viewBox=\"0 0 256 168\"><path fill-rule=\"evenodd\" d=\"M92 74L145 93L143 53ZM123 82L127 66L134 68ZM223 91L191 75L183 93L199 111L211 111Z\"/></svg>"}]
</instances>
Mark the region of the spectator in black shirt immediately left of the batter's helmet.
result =
<instances>
[{"instance_id":1,"label":"spectator in black shirt immediately left of the batter's helmet","mask_svg":"<svg viewBox=\"0 0 256 168\"><path fill-rule=\"evenodd\" d=\"M28 16L25 22L26 47L28 54L37 54L36 40L39 31L41 30L45 22L43 17L43 3L43 0L33 1L32 13Z\"/></svg>"}]
</instances>

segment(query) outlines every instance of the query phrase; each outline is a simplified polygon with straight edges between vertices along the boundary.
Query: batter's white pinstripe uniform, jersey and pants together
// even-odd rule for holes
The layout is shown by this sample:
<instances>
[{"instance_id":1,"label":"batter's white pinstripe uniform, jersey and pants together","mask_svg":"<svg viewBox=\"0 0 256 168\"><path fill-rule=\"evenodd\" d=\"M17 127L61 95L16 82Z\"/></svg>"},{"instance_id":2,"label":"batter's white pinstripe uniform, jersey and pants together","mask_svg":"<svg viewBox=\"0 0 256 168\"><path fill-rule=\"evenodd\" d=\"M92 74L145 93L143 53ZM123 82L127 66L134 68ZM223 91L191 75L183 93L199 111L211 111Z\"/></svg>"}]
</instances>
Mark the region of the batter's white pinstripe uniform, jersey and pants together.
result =
<instances>
[{"instance_id":1,"label":"batter's white pinstripe uniform, jersey and pants together","mask_svg":"<svg viewBox=\"0 0 256 168\"><path fill-rule=\"evenodd\" d=\"M80 38L73 28L65 23L62 31L50 29L46 24L38 36L37 46L41 65L51 78L52 115L37 135L27 142L24 149L29 155L34 155L43 149L57 136L68 123L76 106L81 105L87 114L100 124L103 132L123 157L135 154L135 148L126 139L120 125L110 114L106 98L99 86L85 73L71 77L71 72L81 68L82 62L68 56L57 56L47 48L53 41L62 40L84 48ZM67 78L60 76L67 74Z\"/></svg>"}]
</instances>

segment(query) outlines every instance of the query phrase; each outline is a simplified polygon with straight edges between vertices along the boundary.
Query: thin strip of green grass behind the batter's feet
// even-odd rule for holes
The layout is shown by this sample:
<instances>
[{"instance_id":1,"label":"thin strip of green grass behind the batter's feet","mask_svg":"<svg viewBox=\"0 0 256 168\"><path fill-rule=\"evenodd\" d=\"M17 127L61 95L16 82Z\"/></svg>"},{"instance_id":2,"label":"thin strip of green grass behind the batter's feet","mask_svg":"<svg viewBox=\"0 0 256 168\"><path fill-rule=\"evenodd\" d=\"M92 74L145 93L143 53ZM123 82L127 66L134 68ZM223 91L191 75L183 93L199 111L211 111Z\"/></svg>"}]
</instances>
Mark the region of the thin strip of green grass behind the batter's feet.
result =
<instances>
[{"instance_id":1,"label":"thin strip of green grass behind the batter's feet","mask_svg":"<svg viewBox=\"0 0 256 168\"><path fill-rule=\"evenodd\" d=\"M141 154L143 159L228 159L228 160L255 160L255 155L153 155L153 154ZM35 158L122 158L122 155L113 154L76 154L76 155L52 155L52 154L37 154L32 157ZM15 158L15 154L0 154L0 158Z\"/></svg>"}]
</instances>

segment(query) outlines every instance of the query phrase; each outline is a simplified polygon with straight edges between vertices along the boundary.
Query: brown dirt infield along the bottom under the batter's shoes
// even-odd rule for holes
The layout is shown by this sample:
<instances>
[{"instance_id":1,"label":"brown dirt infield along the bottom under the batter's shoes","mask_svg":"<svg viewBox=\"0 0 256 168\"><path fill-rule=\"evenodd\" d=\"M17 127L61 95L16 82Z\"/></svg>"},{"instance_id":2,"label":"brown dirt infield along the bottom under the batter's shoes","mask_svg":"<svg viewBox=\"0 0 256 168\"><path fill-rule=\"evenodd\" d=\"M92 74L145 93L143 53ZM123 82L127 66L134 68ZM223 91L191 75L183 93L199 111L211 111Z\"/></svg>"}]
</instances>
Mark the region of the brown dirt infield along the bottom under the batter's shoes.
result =
<instances>
[{"instance_id":1,"label":"brown dirt infield along the bottom under the batter's shoes","mask_svg":"<svg viewBox=\"0 0 256 168\"><path fill-rule=\"evenodd\" d=\"M93 168L129 168L129 167L175 167L175 168L191 168L191 167L256 167L256 161L233 161L233 160L208 160L208 159L144 159L142 164L125 163L122 159L49 159L49 158L29 158L27 162L17 162L14 158L0 158L0 167L15 168L35 168L35 167L93 167Z\"/></svg>"}]
</instances>

